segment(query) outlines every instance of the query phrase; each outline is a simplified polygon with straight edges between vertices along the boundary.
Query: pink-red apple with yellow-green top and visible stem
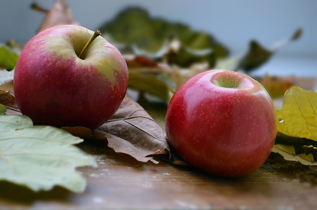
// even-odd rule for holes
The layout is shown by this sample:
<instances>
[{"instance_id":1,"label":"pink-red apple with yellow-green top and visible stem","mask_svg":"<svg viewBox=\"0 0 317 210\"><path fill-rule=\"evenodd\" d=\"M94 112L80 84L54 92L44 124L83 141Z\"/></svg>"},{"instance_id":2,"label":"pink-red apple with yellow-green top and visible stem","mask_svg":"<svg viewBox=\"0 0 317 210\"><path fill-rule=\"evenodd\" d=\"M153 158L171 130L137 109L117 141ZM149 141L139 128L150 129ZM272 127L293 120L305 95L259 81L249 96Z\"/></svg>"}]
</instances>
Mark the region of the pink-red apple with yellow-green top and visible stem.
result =
<instances>
[{"instance_id":1,"label":"pink-red apple with yellow-green top and visible stem","mask_svg":"<svg viewBox=\"0 0 317 210\"><path fill-rule=\"evenodd\" d=\"M59 25L27 43L14 72L23 115L36 125L95 129L117 111L128 69L121 53L97 36L81 26Z\"/></svg>"}]
</instances>

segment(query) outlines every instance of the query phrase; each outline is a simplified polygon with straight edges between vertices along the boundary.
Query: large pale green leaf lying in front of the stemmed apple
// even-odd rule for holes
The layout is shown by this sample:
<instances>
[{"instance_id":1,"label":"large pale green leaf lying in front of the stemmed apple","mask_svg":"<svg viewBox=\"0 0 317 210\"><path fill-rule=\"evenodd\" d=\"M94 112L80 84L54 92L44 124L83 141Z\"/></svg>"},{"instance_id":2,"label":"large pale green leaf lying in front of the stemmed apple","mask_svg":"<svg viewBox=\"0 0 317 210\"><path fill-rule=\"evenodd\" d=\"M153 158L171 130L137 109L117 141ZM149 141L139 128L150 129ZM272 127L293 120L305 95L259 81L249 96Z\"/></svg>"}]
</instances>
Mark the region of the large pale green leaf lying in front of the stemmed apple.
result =
<instances>
[{"instance_id":1,"label":"large pale green leaf lying in front of the stemmed apple","mask_svg":"<svg viewBox=\"0 0 317 210\"><path fill-rule=\"evenodd\" d=\"M94 158L73 146L83 140L50 126L32 126L23 115L0 116L0 180L34 191L55 185L79 193L86 186L76 167L94 166Z\"/></svg>"}]
</instances>

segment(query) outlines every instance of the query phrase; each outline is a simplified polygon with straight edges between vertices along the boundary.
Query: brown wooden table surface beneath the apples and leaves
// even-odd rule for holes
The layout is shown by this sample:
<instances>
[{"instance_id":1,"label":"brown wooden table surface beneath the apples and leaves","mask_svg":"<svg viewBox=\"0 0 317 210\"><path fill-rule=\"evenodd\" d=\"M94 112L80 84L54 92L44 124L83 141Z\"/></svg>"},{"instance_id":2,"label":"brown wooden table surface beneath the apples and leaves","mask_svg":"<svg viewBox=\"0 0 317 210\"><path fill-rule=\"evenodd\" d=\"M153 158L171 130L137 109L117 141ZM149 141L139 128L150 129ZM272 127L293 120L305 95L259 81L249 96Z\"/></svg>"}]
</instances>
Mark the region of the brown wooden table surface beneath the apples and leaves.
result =
<instances>
[{"instance_id":1,"label":"brown wooden table surface beneath the apples and leaves","mask_svg":"<svg viewBox=\"0 0 317 210\"><path fill-rule=\"evenodd\" d=\"M146 106L146 105L144 105ZM147 107L148 108L148 107ZM148 109L164 126L164 107ZM78 145L95 157L98 168L79 171L87 189L74 194L60 187L35 193L0 182L0 209L313 209L316 174L307 166L259 168L246 177L219 178L189 166L142 163L115 153L105 140ZM315 169L315 168L314 168Z\"/></svg>"}]
</instances>

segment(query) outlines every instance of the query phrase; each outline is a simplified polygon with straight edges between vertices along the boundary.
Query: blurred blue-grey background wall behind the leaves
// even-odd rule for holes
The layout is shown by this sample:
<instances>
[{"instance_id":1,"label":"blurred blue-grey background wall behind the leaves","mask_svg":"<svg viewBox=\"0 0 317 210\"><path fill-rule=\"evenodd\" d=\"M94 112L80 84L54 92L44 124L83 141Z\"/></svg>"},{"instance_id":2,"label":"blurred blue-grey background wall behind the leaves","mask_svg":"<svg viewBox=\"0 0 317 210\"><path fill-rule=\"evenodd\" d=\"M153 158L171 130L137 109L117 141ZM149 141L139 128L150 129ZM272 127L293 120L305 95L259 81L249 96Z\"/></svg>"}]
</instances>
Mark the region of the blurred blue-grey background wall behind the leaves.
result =
<instances>
[{"instance_id":1,"label":"blurred blue-grey background wall behind the leaves","mask_svg":"<svg viewBox=\"0 0 317 210\"><path fill-rule=\"evenodd\" d=\"M45 14L29 9L33 2L0 1L0 43L16 39L24 44L36 34ZM54 0L36 2L49 9ZM304 31L301 39L283 47L256 72L316 75L317 0L68 0L68 3L76 20L92 30L127 6L141 6L152 16L181 21L212 33L233 54L245 50L250 39L270 46L301 27Z\"/></svg>"}]
</instances>

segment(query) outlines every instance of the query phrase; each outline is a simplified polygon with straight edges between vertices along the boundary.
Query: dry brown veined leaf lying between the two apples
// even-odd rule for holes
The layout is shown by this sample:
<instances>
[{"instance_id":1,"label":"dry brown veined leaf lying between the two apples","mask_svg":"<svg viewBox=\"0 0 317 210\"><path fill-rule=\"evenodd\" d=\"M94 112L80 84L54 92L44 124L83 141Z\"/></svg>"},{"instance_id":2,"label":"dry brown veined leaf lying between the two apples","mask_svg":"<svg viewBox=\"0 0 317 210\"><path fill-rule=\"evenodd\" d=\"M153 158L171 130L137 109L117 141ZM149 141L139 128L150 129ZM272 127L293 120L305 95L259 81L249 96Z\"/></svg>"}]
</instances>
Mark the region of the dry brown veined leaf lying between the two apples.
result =
<instances>
[{"instance_id":1,"label":"dry brown veined leaf lying between the two apples","mask_svg":"<svg viewBox=\"0 0 317 210\"><path fill-rule=\"evenodd\" d=\"M148 156L169 151L163 129L129 96L114 116L93 134L107 137L108 146L115 152L129 154L142 162L158 163Z\"/></svg>"}]
</instances>

